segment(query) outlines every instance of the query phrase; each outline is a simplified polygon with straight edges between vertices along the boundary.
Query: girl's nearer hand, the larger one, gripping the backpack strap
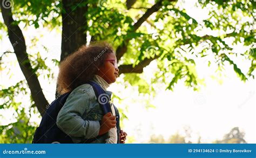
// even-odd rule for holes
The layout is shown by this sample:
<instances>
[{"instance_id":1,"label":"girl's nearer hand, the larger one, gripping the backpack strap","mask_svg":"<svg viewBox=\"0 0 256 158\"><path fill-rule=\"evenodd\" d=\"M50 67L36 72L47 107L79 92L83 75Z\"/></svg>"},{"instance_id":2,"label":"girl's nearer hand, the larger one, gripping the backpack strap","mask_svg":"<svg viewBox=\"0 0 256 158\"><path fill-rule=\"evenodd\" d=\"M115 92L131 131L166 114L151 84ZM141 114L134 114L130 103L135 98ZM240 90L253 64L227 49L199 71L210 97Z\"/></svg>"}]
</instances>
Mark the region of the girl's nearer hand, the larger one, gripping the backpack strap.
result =
<instances>
[{"instance_id":1,"label":"girl's nearer hand, the larger one, gripping the backpack strap","mask_svg":"<svg viewBox=\"0 0 256 158\"><path fill-rule=\"evenodd\" d=\"M106 113L102 118L102 125L100 125L99 128L99 135L102 135L104 133L107 133L110 128L116 127L116 116L113 116L111 112Z\"/></svg>"}]
</instances>

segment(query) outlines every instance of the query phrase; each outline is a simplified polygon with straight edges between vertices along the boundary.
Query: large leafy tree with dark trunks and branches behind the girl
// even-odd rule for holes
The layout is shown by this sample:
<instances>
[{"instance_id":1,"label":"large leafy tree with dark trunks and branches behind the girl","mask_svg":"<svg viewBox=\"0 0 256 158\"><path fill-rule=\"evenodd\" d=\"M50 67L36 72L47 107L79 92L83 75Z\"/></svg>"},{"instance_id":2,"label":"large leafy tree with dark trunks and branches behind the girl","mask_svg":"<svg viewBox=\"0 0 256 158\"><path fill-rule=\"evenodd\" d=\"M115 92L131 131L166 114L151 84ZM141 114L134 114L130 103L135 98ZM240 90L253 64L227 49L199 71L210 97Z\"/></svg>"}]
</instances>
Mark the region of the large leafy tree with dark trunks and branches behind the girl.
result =
<instances>
[{"instance_id":1,"label":"large leafy tree with dark trunks and branches behind the girl","mask_svg":"<svg viewBox=\"0 0 256 158\"><path fill-rule=\"evenodd\" d=\"M0 29L8 32L14 49L13 52L1 53L14 53L25 77L25 81L14 86L2 86L1 108L21 104L14 99L20 91L31 95L31 107L37 107L35 113L38 110L44 115L46 105L49 105L38 77L41 70L50 72L51 68L45 64L40 53L36 56L28 53L29 42L25 41L23 30L29 25L36 29L62 28L60 61L83 44L109 41L116 50L120 74L123 73L124 79L131 85L139 86L140 93L152 92L152 85L158 82L173 90L179 80L197 90L201 79L197 77L195 60L210 54L214 55L214 59L207 60L209 66L216 64L221 71L224 64L229 63L242 81L254 77L254 1L199 1L195 4L198 8L209 10L209 18L201 22L188 15L183 1L174 0L157 0L154 4L136 0L127 0L126 4L104 0L0 2L3 16ZM24 24L24 28L19 24ZM200 33L204 29L208 31ZM214 31L218 33L212 33ZM33 43L36 45L36 41ZM233 46L238 43L246 46L247 51L234 53ZM198 51L198 47L202 49ZM242 72L235 63L236 58L250 60L250 68ZM146 83L140 75L153 60L157 61L158 71L151 82ZM20 115L21 111L17 113Z\"/></svg>"}]
</instances>

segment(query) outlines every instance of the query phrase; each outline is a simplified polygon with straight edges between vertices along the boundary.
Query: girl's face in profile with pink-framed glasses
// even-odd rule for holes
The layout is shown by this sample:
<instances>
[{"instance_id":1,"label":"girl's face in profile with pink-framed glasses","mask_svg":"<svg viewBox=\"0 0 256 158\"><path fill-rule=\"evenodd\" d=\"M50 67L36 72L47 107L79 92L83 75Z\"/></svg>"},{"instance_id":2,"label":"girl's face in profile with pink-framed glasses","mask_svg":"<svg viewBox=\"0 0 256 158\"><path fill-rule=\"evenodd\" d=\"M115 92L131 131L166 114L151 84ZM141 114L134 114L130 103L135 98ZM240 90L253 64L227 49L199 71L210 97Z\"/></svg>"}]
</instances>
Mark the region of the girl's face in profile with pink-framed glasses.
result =
<instances>
[{"instance_id":1,"label":"girl's face in profile with pink-framed glasses","mask_svg":"<svg viewBox=\"0 0 256 158\"><path fill-rule=\"evenodd\" d=\"M114 53L107 54L103 66L99 67L98 75L102 77L108 84L112 84L118 77L117 58Z\"/></svg>"}]
</instances>

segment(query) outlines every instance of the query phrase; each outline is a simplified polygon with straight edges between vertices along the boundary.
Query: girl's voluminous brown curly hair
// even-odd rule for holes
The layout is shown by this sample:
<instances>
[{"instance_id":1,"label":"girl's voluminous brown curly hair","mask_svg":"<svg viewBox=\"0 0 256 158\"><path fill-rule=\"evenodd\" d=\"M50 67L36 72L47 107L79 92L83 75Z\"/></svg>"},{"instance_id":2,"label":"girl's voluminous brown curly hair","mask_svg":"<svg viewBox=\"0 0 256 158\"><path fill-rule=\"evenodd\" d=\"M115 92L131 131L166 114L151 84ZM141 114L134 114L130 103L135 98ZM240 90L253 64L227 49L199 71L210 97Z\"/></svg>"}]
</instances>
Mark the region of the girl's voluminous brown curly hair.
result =
<instances>
[{"instance_id":1,"label":"girl's voluminous brown curly hair","mask_svg":"<svg viewBox=\"0 0 256 158\"><path fill-rule=\"evenodd\" d=\"M60 63L57 92L63 94L72 91L91 80L109 53L114 53L112 44L100 42L83 45L70 54Z\"/></svg>"}]
</instances>

